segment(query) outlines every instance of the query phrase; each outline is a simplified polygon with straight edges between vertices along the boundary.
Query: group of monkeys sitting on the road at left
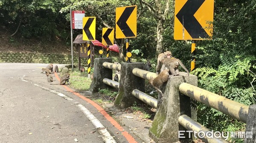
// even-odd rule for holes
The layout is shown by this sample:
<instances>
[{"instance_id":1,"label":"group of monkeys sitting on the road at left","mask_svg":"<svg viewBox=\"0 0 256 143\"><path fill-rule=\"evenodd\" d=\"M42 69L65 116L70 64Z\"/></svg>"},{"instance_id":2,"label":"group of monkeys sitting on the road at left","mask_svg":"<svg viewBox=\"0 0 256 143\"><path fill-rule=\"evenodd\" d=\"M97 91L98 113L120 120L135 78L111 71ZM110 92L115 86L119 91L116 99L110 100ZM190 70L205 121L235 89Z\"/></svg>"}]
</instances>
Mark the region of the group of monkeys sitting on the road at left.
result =
<instances>
[{"instance_id":1,"label":"group of monkeys sitting on the road at left","mask_svg":"<svg viewBox=\"0 0 256 143\"><path fill-rule=\"evenodd\" d=\"M53 64L48 64L46 68L42 68L41 73L44 73L44 72L47 76L47 81L52 82L53 81L52 73L54 72L58 73L58 66L55 65L55 68L53 70ZM64 74L63 76L61 76L60 85L64 85L66 84L66 82L70 85L69 79L70 79L70 74L69 73Z\"/></svg>"}]
</instances>

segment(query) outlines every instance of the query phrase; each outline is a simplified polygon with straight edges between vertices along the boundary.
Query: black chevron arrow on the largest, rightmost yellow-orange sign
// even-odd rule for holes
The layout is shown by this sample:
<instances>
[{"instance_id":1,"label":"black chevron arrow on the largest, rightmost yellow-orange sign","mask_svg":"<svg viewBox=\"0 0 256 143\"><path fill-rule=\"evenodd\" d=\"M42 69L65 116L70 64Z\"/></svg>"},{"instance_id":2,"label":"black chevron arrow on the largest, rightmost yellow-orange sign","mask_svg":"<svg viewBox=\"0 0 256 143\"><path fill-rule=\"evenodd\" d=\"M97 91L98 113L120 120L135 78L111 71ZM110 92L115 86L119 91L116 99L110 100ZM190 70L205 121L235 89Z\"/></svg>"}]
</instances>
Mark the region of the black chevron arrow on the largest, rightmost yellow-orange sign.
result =
<instances>
[{"instance_id":1,"label":"black chevron arrow on the largest, rightmost yellow-orange sign","mask_svg":"<svg viewBox=\"0 0 256 143\"><path fill-rule=\"evenodd\" d=\"M183 27L193 39L209 37L198 20L194 17L195 12L204 1L205 0L188 0L176 15L177 19L180 20Z\"/></svg>"}]
</instances>

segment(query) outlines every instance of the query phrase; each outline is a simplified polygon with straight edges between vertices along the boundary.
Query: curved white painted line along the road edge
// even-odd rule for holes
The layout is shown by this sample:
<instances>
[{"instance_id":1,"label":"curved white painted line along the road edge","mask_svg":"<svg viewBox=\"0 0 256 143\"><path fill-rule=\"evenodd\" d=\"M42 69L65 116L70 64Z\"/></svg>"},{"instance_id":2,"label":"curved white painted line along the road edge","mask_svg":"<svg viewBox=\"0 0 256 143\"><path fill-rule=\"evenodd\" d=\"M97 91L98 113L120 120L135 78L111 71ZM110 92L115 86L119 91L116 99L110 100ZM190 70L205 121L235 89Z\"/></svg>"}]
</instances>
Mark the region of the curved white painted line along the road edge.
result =
<instances>
[{"instance_id":1,"label":"curved white painted line along the road edge","mask_svg":"<svg viewBox=\"0 0 256 143\"><path fill-rule=\"evenodd\" d=\"M43 87L38 84L34 84L34 85L36 87L40 87L44 90L48 90L49 92L54 93L56 95L59 95L59 96L65 98L66 100L72 102L73 104L75 104L84 113L84 115L90 120L90 122L93 123L93 125L97 128L97 131L101 134L101 137L105 141L105 143L116 143L116 140L114 140L114 138L108 132L106 127L104 125L102 125L102 123L82 104L75 101L73 98L70 98L67 95L64 95L63 93L59 93L58 91L51 90L47 87Z\"/></svg>"}]
</instances>

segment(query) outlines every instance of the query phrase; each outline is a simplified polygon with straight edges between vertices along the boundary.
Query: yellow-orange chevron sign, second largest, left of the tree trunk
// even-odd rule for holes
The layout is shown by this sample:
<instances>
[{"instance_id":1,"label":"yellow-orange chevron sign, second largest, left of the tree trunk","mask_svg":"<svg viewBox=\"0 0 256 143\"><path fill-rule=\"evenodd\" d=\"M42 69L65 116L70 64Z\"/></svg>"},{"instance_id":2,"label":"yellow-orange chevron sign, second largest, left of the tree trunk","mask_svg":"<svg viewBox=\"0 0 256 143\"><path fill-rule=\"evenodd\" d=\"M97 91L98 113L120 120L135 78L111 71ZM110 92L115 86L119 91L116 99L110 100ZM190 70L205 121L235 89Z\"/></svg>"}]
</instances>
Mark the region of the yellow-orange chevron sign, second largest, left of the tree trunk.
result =
<instances>
[{"instance_id":1,"label":"yellow-orange chevron sign, second largest, left of the tree trunk","mask_svg":"<svg viewBox=\"0 0 256 143\"><path fill-rule=\"evenodd\" d=\"M116 38L137 36L137 6L116 8Z\"/></svg>"}]
</instances>

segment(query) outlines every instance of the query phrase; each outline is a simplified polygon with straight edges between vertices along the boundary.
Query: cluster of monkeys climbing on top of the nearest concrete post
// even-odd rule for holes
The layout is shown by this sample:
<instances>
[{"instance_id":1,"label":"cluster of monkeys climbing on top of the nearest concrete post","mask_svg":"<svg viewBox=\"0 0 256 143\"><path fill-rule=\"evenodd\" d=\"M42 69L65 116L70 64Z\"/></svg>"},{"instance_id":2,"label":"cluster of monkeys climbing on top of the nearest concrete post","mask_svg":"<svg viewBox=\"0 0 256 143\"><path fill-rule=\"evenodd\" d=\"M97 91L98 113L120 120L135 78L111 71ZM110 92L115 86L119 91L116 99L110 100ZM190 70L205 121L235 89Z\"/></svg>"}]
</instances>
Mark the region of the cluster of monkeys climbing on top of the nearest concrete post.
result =
<instances>
[{"instance_id":1,"label":"cluster of monkeys climbing on top of the nearest concrete post","mask_svg":"<svg viewBox=\"0 0 256 143\"><path fill-rule=\"evenodd\" d=\"M189 76L189 71L186 67L180 62L179 59L172 57L172 53L170 51L166 51L164 53L160 53L157 57L157 67L156 73L157 77L154 79L149 79L149 83L157 90L157 92L163 96L162 91L159 89L164 82L168 81L168 79L172 76L178 76L180 74L179 65L186 70Z\"/></svg>"}]
</instances>

